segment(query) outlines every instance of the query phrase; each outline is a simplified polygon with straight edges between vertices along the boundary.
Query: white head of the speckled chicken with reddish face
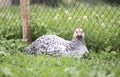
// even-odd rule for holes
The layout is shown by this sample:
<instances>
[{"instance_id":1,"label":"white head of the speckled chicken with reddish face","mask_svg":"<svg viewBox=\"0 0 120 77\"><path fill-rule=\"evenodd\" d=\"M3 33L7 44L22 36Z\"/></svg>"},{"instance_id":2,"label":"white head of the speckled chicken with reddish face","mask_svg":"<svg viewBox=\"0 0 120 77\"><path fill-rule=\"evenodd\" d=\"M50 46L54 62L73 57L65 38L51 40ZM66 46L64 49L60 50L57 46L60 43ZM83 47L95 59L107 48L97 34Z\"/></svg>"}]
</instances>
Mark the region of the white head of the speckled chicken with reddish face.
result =
<instances>
[{"instance_id":1,"label":"white head of the speckled chicken with reddish face","mask_svg":"<svg viewBox=\"0 0 120 77\"><path fill-rule=\"evenodd\" d=\"M83 38L84 38L83 29L81 29L81 28L75 29L75 31L74 31L74 33L73 33L73 38L74 38L74 39L78 39L78 40L83 39Z\"/></svg>"}]
</instances>

